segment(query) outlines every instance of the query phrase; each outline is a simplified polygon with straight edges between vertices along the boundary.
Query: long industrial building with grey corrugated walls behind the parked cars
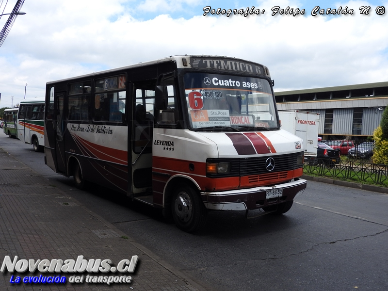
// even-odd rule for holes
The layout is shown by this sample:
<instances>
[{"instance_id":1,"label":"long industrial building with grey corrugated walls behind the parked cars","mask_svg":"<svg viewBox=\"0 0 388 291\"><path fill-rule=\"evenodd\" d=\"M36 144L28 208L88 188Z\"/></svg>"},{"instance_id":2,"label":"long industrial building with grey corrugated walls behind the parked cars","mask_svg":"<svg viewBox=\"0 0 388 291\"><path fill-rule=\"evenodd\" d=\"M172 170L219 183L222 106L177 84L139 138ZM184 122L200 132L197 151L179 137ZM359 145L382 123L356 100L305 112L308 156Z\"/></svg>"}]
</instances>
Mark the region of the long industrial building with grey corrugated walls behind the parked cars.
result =
<instances>
[{"instance_id":1,"label":"long industrial building with grey corrugated walls behind the parked cars","mask_svg":"<svg viewBox=\"0 0 388 291\"><path fill-rule=\"evenodd\" d=\"M275 92L277 109L320 113L324 140L366 141L388 105L388 82Z\"/></svg>"}]
</instances>

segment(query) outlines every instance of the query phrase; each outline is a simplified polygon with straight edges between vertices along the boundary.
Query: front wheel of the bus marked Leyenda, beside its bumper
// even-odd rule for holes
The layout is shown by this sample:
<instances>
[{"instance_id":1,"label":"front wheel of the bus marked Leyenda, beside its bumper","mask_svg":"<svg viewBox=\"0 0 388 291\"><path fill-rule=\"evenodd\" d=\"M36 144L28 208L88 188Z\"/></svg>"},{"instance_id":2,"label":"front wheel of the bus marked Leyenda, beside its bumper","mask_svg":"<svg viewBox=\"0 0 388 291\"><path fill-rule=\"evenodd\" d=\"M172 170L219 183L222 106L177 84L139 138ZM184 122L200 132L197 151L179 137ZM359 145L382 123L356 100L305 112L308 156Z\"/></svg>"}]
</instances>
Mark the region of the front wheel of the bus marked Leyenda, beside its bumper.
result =
<instances>
[{"instance_id":1,"label":"front wheel of the bus marked Leyenda, beside its bumper","mask_svg":"<svg viewBox=\"0 0 388 291\"><path fill-rule=\"evenodd\" d=\"M208 216L199 194L192 187L180 184L171 200L171 212L176 226L186 232L202 228Z\"/></svg>"}]
</instances>

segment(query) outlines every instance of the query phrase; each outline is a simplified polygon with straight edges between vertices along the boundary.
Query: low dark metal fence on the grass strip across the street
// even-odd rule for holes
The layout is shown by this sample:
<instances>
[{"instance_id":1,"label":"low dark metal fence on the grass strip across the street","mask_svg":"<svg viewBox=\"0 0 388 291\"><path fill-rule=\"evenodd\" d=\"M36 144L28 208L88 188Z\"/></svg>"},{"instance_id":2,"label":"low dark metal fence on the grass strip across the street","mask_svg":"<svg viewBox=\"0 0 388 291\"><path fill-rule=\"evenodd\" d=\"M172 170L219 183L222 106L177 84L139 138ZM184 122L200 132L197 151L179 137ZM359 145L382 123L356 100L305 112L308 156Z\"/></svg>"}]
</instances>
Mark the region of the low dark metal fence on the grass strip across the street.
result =
<instances>
[{"instance_id":1,"label":"low dark metal fence on the grass strip across the street","mask_svg":"<svg viewBox=\"0 0 388 291\"><path fill-rule=\"evenodd\" d=\"M303 173L388 187L388 165L372 162L341 161L339 164L305 162Z\"/></svg>"}]
</instances>

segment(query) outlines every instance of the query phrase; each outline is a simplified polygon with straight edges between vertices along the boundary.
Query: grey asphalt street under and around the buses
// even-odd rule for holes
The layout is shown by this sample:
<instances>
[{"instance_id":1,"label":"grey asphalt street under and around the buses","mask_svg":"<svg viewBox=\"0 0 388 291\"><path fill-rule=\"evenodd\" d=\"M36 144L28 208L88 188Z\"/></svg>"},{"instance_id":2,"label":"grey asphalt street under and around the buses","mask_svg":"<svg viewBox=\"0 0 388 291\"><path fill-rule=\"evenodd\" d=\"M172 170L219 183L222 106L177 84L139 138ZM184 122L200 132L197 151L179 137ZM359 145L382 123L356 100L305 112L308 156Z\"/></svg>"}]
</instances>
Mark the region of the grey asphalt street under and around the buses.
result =
<instances>
[{"instance_id":1,"label":"grey asphalt street under and around the buses","mask_svg":"<svg viewBox=\"0 0 388 291\"><path fill-rule=\"evenodd\" d=\"M30 145L0 134L0 147L205 290L388 290L387 194L308 181L285 215L246 220L210 212L205 229L192 235L110 190L76 190Z\"/></svg>"}]
</instances>

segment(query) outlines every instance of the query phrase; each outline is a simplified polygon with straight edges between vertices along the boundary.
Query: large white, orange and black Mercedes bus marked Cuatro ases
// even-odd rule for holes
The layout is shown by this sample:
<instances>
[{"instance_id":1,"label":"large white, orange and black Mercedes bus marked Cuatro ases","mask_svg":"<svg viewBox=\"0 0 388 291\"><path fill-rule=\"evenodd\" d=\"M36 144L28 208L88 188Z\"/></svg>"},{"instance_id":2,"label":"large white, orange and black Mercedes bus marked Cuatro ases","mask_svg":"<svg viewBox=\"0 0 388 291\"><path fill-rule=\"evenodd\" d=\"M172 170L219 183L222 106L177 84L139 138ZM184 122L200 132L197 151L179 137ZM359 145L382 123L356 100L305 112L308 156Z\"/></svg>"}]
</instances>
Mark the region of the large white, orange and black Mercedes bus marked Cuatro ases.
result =
<instances>
[{"instance_id":1,"label":"large white, orange and black Mercedes bus marked Cuatro ases","mask_svg":"<svg viewBox=\"0 0 388 291\"><path fill-rule=\"evenodd\" d=\"M280 129L272 86L264 65L189 55L48 82L45 162L188 232L208 210L285 213L306 188L304 148Z\"/></svg>"}]
</instances>

